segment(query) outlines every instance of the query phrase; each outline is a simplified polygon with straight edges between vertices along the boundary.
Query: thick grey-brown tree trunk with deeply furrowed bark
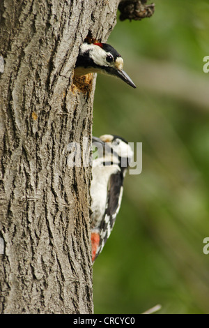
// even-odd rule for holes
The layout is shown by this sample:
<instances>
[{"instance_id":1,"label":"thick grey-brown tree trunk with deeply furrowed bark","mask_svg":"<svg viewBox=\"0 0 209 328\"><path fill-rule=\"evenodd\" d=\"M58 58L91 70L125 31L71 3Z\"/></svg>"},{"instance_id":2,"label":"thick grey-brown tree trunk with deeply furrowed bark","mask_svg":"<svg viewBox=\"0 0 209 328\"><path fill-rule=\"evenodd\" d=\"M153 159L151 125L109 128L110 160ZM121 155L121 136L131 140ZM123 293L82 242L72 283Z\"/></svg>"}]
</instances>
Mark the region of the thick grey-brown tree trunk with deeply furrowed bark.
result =
<instances>
[{"instance_id":1,"label":"thick grey-brown tree trunk with deeply furrowed bark","mask_svg":"<svg viewBox=\"0 0 209 328\"><path fill-rule=\"evenodd\" d=\"M95 76L73 80L86 36L107 40L118 0L0 2L1 313L92 313L91 144ZM83 148L81 147L81 154Z\"/></svg>"}]
</instances>

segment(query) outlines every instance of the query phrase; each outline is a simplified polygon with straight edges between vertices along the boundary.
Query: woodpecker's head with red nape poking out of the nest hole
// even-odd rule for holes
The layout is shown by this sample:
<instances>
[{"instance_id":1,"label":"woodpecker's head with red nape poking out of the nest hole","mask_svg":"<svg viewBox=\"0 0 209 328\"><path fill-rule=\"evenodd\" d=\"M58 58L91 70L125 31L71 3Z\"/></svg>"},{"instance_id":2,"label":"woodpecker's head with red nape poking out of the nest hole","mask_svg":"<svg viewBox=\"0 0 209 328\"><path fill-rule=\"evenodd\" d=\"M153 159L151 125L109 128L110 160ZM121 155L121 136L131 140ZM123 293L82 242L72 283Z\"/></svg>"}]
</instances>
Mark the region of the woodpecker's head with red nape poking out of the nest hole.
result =
<instances>
[{"instance_id":1,"label":"woodpecker's head with red nape poking out of the nest hole","mask_svg":"<svg viewBox=\"0 0 209 328\"><path fill-rule=\"evenodd\" d=\"M131 87L136 88L134 82L123 70L121 54L107 43L84 42L80 49L75 64L75 75L81 76L88 73L103 73L119 77Z\"/></svg>"}]
</instances>

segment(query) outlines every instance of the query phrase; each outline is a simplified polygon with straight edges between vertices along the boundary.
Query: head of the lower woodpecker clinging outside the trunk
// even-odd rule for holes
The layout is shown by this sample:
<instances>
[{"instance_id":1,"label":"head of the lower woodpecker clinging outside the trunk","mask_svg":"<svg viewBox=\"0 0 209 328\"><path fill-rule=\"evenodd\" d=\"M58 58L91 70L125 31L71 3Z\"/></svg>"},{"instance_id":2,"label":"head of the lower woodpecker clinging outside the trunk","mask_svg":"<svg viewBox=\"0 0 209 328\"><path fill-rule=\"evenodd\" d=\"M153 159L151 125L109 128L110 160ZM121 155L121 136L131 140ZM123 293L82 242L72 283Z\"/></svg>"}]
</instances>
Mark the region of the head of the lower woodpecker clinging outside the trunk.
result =
<instances>
[{"instance_id":1,"label":"head of the lower woodpecker clinging outside the trunk","mask_svg":"<svg viewBox=\"0 0 209 328\"><path fill-rule=\"evenodd\" d=\"M118 165L121 167L121 170L125 170L132 163L133 151L123 137L118 137L118 135L101 135L99 138L92 137L92 141L102 144L102 156L105 156L106 162L118 159ZM98 153L98 156L101 156L101 152Z\"/></svg>"}]
</instances>

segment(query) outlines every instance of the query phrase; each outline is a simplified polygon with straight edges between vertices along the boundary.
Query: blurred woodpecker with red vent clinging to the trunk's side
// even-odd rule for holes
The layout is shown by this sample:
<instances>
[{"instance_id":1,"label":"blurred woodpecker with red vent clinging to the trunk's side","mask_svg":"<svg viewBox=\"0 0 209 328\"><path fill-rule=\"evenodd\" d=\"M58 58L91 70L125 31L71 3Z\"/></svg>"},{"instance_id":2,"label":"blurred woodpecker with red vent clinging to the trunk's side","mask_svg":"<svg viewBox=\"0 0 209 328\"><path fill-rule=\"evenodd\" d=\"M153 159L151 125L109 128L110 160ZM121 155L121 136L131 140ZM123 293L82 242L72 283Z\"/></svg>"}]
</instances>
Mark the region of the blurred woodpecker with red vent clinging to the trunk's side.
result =
<instances>
[{"instance_id":1,"label":"blurred woodpecker with red vent clinging to the trunk's side","mask_svg":"<svg viewBox=\"0 0 209 328\"><path fill-rule=\"evenodd\" d=\"M114 227L121 207L123 179L132 162L133 151L122 137L93 137L98 149L93 160L91 181L91 246L92 262L101 253Z\"/></svg>"}]
</instances>

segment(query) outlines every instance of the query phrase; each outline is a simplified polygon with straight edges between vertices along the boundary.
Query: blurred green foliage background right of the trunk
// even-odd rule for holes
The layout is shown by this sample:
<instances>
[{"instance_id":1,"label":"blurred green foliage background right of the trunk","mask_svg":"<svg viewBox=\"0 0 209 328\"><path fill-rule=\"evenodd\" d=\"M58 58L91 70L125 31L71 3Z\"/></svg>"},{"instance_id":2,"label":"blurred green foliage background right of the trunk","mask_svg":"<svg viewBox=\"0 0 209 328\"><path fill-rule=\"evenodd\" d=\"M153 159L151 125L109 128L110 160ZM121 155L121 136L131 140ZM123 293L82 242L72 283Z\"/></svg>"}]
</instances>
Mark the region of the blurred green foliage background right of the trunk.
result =
<instances>
[{"instance_id":1,"label":"blurred green foliage background right of the trunk","mask_svg":"<svg viewBox=\"0 0 209 328\"><path fill-rule=\"evenodd\" d=\"M155 1L108 40L137 84L98 75L93 135L143 142L121 210L93 265L95 313L209 313L209 2Z\"/></svg>"}]
</instances>

